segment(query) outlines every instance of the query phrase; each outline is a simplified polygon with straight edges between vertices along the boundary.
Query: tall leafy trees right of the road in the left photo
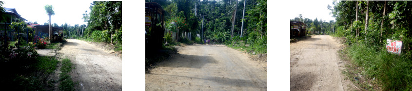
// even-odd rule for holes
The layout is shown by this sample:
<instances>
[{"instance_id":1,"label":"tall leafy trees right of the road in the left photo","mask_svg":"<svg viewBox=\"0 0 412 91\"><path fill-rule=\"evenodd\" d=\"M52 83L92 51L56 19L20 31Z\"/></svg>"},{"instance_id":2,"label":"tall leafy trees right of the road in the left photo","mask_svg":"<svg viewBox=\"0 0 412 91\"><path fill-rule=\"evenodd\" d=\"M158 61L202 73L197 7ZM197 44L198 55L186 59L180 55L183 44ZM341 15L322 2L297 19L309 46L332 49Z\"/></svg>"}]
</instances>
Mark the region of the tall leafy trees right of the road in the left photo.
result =
<instances>
[{"instance_id":1,"label":"tall leafy trees right of the road in the left photo","mask_svg":"<svg viewBox=\"0 0 412 91\"><path fill-rule=\"evenodd\" d=\"M88 25L83 37L90 38L95 30L103 30L103 42L121 44L121 1L93 1L90 10L83 14Z\"/></svg>"}]
</instances>

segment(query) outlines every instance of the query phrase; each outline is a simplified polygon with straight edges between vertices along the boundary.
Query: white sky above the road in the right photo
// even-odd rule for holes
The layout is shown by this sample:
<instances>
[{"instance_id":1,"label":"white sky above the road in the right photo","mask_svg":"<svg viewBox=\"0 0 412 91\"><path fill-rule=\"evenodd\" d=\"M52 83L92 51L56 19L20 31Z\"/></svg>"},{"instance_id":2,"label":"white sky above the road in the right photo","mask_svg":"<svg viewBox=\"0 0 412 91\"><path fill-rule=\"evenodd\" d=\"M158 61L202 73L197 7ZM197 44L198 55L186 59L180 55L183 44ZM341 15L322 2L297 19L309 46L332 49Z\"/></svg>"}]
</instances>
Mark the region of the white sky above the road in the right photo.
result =
<instances>
[{"instance_id":1,"label":"white sky above the road in the right photo","mask_svg":"<svg viewBox=\"0 0 412 91\"><path fill-rule=\"evenodd\" d=\"M331 10L328 10L328 4L332 7L332 0L299 0L291 1L288 5L293 5L295 7L288 7L289 12L287 15L289 19L294 19L295 17L302 14L303 18L309 18L314 20L317 17L317 20L335 20L332 15L329 15Z\"/></svg>"}]
</instances>

